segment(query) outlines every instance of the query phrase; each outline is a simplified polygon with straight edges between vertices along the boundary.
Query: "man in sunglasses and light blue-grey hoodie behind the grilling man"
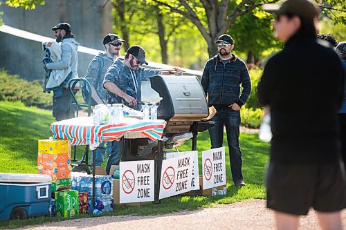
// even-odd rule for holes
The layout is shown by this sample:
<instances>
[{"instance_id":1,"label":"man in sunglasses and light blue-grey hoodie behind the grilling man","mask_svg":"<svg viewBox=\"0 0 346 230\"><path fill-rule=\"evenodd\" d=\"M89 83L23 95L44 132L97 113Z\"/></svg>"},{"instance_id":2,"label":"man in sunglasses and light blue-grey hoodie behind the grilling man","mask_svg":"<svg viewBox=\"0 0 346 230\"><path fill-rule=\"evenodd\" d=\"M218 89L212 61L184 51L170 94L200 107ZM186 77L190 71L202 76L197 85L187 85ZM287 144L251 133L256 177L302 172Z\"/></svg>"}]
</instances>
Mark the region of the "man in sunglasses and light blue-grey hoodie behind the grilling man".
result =
<instances>
[{"instance_id":1,"label":"man in sunglasses and light blue-grey hoodie behind the grilling man","mask_svg":"<svg viewBox=\"0 0 346 230\"><path fill-rule=\"evenodd\" d=\"M103 39L104 52L100 52L98 55L93 57L91 60L88 70L86 72L85 79L88 80L91 86L91 103L96 104L107 104L108 92L103 88L104 75L111 64L120 56L120 48L122 43L126 42L120 39L118 35L108 34ZM88 91L86 88L82 88L82 94L84 100L88 101ZM112 148L113 146L113 148ZM104 153L107 153L107 157L111 154L111 151L116 151L116 144L111 142L106 143L104 148L104 142L96 148L95 154L95 165L100 166L104 162ZM93 160L91 159L91 162Z\"/></svg>"}]
</instances>

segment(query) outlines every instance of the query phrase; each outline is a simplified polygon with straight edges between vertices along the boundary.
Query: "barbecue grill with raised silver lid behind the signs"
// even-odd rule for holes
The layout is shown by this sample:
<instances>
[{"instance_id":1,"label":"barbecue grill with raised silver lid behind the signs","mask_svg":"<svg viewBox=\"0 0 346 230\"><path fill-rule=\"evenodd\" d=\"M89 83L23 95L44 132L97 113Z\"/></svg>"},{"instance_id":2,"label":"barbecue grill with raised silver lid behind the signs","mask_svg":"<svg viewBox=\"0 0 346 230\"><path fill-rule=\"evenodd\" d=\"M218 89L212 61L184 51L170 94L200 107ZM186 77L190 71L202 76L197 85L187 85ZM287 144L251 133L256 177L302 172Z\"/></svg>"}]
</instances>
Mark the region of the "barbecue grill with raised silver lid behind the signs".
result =
<instances>
[{"instance_id":1,"label":"barbecue grill with raised silver lid behind the signs","mask_svg":"<svg viewBox=\"0 0 346 230\"><path fill-rule=\"evenodd\" d=\"M161 177L163 152L192 138L192 151L197 150L198 132L205 131L214 122L202 121L208 117L208 103L201 83L196 76L150 77L150 84L162 98L157 108L158 119L167 125L162 140L123 139L122 161L155 160L155 200Z\"/></svg>"}]
</instances>

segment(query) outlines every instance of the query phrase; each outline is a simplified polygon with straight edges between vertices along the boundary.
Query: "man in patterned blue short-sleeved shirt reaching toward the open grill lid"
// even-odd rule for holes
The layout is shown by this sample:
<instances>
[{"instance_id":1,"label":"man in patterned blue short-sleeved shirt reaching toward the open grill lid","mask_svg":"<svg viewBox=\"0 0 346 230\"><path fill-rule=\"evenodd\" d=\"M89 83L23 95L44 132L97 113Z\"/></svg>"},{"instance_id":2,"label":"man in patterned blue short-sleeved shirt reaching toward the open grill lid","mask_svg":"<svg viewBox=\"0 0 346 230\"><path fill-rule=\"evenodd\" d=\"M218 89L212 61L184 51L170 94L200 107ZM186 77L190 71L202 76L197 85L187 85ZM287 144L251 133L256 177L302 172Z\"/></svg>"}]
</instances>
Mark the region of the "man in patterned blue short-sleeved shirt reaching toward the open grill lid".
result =
<instances>
[{"instance_id":1,"label":"man in patterned blue short-sleeved shirt reaching toward the open grill lid","mask_svg":"<svg viewBox=\"0 0 346 230\"><path fill-rule=\"evenodd\" d=\"M108 90L108 103L118 104L127 102L131 108L140 110L137 102L142 98L142 81L149 80L149 77L157 75L162 70L143 68L143 64L148 64L145 60L145 50L140 46L131 46L122 61L117 59L104 75L103 87ZM181 73L183 70L174 68L168 73ZM111 165L119 164L121 157L120 142L112 142L118 145L117 153L109 155L106 171L109 174Z\"/></svg>"}]
</instances>

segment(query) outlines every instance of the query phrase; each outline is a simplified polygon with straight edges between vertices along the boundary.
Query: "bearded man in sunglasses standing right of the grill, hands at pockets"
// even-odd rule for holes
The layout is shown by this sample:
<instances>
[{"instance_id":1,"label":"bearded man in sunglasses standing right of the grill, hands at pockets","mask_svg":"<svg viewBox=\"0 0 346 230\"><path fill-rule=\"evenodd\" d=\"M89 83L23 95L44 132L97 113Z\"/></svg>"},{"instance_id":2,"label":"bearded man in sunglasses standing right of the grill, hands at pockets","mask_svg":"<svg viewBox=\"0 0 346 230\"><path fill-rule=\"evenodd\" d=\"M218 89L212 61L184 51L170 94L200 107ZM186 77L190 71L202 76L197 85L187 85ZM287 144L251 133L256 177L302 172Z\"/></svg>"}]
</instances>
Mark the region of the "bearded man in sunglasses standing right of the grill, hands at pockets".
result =
<instances>
[{"instance_id":1,"label":"bearded man in sunglasses standing right of the grill, hands at pockets","mask_svg":"<svg viewBox=\"0 0 346 230\"><path fill-rule=\"evenodd\" d=\"M219 53L207 61L201 79L204 93L208 93L209 106L217 110L211 119L215 125L209 128L210 141L212 148L222 147L226 126L232 178L235 186L241 187L246 184L239 146L240 107L251 93L251 80L244 61L232 53L233 38L221 35L216 42Z\"/></svg>"}]
</instances>

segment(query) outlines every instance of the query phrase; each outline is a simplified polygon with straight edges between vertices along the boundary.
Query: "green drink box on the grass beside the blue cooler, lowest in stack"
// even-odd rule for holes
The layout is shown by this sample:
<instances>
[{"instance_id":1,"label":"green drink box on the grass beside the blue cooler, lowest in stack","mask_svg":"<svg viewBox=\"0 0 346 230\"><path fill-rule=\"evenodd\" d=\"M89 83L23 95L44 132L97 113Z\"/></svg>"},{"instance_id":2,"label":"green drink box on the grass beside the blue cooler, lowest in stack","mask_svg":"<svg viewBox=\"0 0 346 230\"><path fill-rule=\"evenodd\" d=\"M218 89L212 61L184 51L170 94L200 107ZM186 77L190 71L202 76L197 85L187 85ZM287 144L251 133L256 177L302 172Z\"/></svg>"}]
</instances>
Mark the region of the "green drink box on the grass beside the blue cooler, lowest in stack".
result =
<instances>
[{"instance_id":1,"label":"green drink box on the grass beside the blue cooler, lowest in stack","mask_svg":"<svg viewBox=\"0 0 346 230\"><path fill-rule=\"evenodd\" d=\"M77 190L62 190L55 192L55 207L57 215L71 218L79 214Z\"/></svg>"}]
</instances>

